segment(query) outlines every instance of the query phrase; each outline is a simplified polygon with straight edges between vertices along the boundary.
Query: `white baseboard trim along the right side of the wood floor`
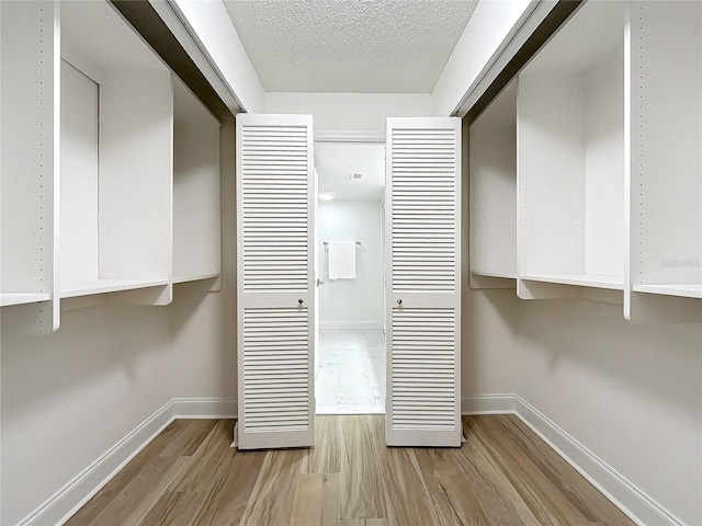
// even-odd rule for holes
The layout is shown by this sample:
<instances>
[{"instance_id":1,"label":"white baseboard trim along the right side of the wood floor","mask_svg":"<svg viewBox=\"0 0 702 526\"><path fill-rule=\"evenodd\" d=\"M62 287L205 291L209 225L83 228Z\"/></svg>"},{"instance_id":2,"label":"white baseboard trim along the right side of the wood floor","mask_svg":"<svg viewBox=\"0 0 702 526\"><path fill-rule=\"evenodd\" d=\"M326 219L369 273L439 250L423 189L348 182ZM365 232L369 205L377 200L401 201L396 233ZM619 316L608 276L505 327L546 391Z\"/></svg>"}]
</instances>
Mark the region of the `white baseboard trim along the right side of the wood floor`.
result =
<instances>
[{"instance_id":1,"label":"white baseboard trim along the right side of the wood floor","mask_svg":"<svg viewBox=\"0 0 702 526\"><path fill-rule=\"evenodd\" d=\"M462 409L463 414L516 414L636 524L684 525L519 395L468 397L462 400Z\"/></svg>"}]
</instances>

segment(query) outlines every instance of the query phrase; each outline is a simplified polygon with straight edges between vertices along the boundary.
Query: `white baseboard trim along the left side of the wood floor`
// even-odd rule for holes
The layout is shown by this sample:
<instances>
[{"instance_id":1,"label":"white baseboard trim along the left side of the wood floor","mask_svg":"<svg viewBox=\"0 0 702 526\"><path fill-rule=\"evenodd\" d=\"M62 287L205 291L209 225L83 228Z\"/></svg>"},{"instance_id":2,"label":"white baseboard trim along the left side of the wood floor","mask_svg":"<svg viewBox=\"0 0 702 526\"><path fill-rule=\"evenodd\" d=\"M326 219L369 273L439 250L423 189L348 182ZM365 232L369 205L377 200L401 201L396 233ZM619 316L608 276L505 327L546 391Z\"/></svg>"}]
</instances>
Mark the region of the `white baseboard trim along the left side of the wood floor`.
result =
<instances>
[{"instance_id":1,"label":"white baseboard trim along the left side of the wood floor","mask_svg":"<svg viewBox=\"0 0 702 526\"><path fill-rule=\"evenodd\" d=\"M172 399L20 521L16 526L63 525L66 523L173 420L230 419L236 418L236 400L218 398Z\"/></svg>"}]
</instances>

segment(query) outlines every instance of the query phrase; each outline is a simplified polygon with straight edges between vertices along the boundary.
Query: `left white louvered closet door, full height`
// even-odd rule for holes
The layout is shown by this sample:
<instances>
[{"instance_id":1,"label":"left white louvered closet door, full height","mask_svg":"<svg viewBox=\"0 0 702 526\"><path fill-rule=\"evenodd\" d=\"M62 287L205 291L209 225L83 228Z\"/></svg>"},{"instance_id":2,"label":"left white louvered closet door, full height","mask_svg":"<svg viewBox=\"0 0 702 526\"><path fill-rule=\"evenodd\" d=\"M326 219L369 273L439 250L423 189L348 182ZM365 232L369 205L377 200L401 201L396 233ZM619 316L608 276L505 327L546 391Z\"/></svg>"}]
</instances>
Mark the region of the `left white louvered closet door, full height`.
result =
<instances>
[{"instance_id":1,"label":"left white louvered closet door, full height","mask_svg":"<svg viewBox=\"0 0 702 526\"><path fill-rule=\"evenodd\" d=\"M314 444L312 117L237 115L240 449Z\"/></svg>"}]
</instances>

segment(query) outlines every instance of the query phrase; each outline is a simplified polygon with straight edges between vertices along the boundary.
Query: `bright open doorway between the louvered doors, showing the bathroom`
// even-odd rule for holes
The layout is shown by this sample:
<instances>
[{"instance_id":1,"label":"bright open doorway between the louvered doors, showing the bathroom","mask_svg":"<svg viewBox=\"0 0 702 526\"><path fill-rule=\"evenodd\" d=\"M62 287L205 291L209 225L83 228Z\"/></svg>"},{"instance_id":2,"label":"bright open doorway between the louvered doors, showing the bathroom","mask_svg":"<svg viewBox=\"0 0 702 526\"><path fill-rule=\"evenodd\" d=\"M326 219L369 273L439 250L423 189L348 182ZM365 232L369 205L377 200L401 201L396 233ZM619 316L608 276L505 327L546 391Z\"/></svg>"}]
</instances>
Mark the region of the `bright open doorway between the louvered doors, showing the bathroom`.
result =
<instances>
[{"instance_id":1,"label":"bright open doorway between the louvered doors, showing the bathroom","mask_svg":"<svg viewBox=\"0 0 702 526\"><path fill-rule=\"evenodd\" d=\"M316 412L384 413L385 146L317 142L315 170L319 195Z\"/></svg>"}]
</instances>

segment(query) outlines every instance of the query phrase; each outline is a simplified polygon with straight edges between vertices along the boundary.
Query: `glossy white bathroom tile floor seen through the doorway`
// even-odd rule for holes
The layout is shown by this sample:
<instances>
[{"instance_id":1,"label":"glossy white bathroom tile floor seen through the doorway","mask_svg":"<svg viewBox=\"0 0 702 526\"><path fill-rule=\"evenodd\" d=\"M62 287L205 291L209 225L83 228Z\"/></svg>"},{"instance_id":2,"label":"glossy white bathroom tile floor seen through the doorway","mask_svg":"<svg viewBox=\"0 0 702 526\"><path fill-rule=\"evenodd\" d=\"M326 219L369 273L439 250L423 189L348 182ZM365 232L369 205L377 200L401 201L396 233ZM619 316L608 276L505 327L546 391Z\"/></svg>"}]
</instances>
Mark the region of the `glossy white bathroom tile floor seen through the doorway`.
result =
<instances>
[{"instance_id":1,"label":"glossy white bathroom tile floor seen through the doorway","mask_svg":"<svg viewBox=\"0 0 702 526\"><path fill-rule=\"evenodd\" d=\"M385 335L377 330L319 333L317 414L385 412Z\"/></svg>"}]
</instances>

